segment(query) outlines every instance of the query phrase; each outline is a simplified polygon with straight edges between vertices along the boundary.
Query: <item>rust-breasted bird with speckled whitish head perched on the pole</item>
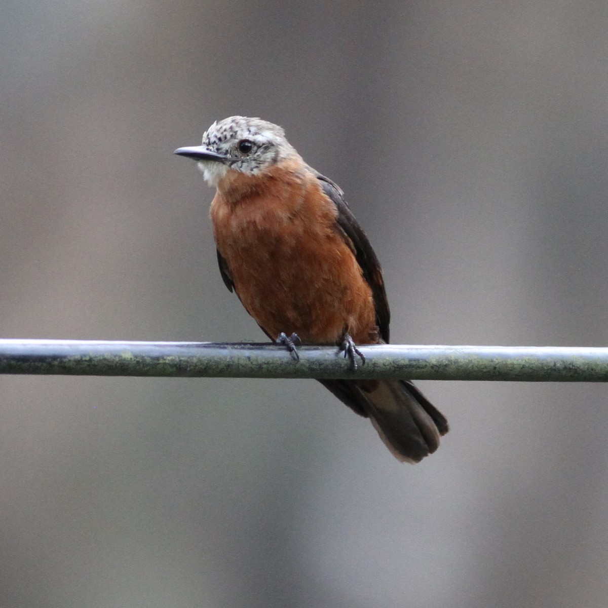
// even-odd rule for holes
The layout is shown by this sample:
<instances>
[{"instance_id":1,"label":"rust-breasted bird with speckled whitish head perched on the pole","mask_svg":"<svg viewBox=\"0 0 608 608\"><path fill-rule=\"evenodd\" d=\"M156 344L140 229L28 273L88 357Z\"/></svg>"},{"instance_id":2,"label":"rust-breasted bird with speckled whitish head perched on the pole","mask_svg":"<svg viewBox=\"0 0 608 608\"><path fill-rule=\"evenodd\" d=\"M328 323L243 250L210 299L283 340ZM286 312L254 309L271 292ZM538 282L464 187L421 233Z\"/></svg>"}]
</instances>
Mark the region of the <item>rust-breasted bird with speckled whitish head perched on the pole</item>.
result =
<instances>
[{"instance_id":1,"label":"rust-breasted bird with speckled whitish head perched on the pole","mask_svg":"<svg viewBox=\"0 0 608 608\"><path fill-rule=\"evenodd\" d=\"M215 121L196 161L216 188L210 207L219 271L247 313L295 358L300 344L344 350L389 342L390 310L378 258L344 192L309 167L285 131L259 118ZM416 463L437 450L448 423L410 381L319 380L369 418L390 452Z\"/></svg>"}]
</instances>

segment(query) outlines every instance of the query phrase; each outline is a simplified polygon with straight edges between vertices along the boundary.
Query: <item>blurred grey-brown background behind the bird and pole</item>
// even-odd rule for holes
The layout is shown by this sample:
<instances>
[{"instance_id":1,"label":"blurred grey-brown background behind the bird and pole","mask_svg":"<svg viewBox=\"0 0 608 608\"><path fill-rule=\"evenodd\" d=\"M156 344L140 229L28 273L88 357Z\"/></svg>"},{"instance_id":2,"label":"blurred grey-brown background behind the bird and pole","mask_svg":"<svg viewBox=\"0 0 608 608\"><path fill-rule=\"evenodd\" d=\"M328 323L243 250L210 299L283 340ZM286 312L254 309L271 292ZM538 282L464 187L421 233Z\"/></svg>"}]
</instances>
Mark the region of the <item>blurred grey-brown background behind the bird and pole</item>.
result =
<instances>
[{"instance_id":1,"label":"blurred grey-brown background behind the bird and pole","mask_svg":"<svg viewBox=\"0 0 608 608\"><path fill-rule=\"evenodd\" d=\"M606 2L5 1L0 335L262 340L174 148L285 127L393 342L605 345ZM313 381L0 378L0 606L606 606L606 385L421 382L399 465Z\"/></svg>"}]
</instances>

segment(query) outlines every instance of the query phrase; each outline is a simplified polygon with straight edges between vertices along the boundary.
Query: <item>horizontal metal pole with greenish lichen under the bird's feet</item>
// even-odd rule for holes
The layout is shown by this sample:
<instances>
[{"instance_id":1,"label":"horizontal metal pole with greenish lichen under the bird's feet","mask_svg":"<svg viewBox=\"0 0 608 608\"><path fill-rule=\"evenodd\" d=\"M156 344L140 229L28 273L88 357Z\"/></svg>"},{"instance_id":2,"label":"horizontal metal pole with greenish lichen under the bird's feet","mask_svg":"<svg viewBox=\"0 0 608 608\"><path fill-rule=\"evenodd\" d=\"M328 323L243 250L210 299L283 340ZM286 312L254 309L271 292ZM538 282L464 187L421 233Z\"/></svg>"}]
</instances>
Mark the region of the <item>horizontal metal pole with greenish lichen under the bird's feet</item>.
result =
<instances>
[{"instance_id":1,"label":"horizontal metal pole with greenish lichen under the bird's feet","mask_svg":"<svg viewBox=\"0 0 608 608\"><path fill-rule=\"evenodd\" d=\"M409 378L608 382L608 348L361 347L356 371L333 347L274 344L0 340L0 373L214 378Z\"/></svg>"}]
</instances>

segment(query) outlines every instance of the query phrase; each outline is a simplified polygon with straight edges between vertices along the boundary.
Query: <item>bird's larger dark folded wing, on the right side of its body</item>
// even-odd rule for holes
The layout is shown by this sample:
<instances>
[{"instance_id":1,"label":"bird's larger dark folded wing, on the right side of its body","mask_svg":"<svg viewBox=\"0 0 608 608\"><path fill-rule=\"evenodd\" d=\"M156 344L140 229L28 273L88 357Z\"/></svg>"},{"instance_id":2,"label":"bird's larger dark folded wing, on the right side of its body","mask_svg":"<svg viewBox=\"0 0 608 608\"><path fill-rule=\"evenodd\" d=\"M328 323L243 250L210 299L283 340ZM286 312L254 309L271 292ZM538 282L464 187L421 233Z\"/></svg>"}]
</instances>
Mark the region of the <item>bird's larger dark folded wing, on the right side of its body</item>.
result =
<instances>
[{"instance_id":1,"label":"bird's larger dark folded wing, on the right side of its body","mask_svg":"<svg viewBox=\"0 0 608 608\"><path fill-rule=\"evenodd\" d=\"M371 249L370 241L363 232L353 212L348 208L344 200L344 192L334 184L331 179L326 178L320 173L316 173L317 179L323 188L323 192L330 197L338 210L337 225L342 237L353 250L355 257L361 266L363 277L371 287L371 292L376 305L376 320L380 330L380 336L384 342L389 342L389 323L390 309L389 302L384 291L384 281L382 280L382 269L374 250Z\"/></svg>"}]
</instances>

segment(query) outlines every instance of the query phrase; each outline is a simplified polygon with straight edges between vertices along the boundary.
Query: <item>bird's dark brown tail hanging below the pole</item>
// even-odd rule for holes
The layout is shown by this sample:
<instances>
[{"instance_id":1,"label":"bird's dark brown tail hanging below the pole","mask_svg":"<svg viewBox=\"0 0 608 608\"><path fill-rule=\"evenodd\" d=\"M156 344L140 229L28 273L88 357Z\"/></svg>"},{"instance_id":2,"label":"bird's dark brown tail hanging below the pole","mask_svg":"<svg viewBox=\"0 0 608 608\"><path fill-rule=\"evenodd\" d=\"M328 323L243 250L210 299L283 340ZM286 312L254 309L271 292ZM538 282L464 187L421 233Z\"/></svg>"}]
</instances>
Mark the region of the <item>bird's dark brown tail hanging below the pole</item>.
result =
<instances>
[{"instance_id":1,"label":"bird's dark brown tail hanging below the pole","mask_svg":"<svg viewBox=\"0 0 608 608\"><path fill-rule=\"evenodd\" d=\"M407 380L320 380L340 401L370 418L402 462L420 462L449 430L445 416Z\"/></svg>"}]
</instances>

